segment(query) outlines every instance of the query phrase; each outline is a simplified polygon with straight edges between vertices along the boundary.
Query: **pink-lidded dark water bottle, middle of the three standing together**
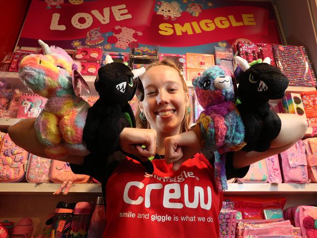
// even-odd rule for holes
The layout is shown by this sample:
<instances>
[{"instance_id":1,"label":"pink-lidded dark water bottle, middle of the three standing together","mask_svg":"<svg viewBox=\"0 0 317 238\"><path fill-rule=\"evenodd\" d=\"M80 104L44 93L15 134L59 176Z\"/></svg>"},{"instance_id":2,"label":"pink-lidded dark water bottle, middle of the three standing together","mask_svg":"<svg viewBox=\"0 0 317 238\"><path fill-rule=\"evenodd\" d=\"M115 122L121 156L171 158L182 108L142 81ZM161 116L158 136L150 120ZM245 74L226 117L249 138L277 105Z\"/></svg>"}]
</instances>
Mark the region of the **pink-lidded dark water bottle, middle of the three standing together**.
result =
<instances>
[{"instance_id":1,"label":"pink-lidded dark water bottle, middle of the three standing together","mask_svg":"<svg viewBox=\"0 0 317 238\"><path fill-rule=\"evenodd\" d=\"M70 238L87 238L91 218L91 204L78 202L74 208Z\"/></svg>"}]
</instances>

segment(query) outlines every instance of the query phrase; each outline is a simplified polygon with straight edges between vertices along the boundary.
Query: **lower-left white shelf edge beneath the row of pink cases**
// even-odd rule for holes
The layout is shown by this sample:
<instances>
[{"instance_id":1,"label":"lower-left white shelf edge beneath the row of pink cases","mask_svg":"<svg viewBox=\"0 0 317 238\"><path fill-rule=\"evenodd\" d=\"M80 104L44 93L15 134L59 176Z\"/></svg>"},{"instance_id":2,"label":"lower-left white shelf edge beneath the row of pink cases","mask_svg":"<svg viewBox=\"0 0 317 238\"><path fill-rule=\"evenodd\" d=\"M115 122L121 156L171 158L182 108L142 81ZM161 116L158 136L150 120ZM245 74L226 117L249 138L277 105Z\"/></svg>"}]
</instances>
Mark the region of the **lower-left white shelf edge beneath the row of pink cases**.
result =
<instances>
[{"instance_id":1,"label":"lower-left white shelf edge beneath the row of pink cases","mask_svg":"<svg viewBox=\"0 0 317 238\"><path fill-rule=\"evenodd\" d=\"M54 193L61 183L0 183L0 193ZM73 184L70 193L101 193L101 184Z\"/></svg>"}]
</instances>

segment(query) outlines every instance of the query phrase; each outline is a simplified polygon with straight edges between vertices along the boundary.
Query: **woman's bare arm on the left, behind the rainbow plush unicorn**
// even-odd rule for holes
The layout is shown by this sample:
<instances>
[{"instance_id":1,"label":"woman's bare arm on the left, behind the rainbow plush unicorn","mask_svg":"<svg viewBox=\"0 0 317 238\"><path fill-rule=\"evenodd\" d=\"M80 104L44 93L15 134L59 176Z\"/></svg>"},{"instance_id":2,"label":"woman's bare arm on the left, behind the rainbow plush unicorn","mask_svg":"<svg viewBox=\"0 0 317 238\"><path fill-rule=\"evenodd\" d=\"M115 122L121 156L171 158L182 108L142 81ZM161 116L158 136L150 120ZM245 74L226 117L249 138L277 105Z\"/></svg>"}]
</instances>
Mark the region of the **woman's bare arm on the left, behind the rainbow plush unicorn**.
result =
<instances>
[{"instance_id":1,"label":"woman's bare arm on the left, behind the rainbow plush unicorn","mask_svg":"<svg viewBox=\"0 0 317 238\"><path fill-rule=\"evenodd\" d=\"M40 143L34 128L35 118L20 119L17 123L8 128L8 134L13 142L22 147L27 152L50 159L44 152L45 146ZM82 164L83 157L69 155L65 159L60 159L64 162Z\"/></svg>"}]
</instances>

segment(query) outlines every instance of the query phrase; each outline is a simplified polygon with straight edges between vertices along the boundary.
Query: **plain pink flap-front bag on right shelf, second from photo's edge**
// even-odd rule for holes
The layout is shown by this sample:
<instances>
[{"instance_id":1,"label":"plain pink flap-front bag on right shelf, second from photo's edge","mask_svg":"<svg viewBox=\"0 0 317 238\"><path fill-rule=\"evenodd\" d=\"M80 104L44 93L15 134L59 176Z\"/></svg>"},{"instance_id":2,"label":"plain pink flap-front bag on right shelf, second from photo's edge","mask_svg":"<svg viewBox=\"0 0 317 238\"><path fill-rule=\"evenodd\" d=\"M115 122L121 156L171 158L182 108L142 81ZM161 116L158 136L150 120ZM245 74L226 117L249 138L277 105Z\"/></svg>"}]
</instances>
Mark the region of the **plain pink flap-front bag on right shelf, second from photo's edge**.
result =
<instances>
[{"instance_id":1,"label":"plain pink flap-front bag on right shelf, second from photo's edge","mask_svg":"<svg viewBox=\"0 0 317 238\"><path fill-rule=\"evenodd\" d=\"M305 143L301 139L280 153L280 159L284 182L308 182Z\"/></svg>"}]
</instances>

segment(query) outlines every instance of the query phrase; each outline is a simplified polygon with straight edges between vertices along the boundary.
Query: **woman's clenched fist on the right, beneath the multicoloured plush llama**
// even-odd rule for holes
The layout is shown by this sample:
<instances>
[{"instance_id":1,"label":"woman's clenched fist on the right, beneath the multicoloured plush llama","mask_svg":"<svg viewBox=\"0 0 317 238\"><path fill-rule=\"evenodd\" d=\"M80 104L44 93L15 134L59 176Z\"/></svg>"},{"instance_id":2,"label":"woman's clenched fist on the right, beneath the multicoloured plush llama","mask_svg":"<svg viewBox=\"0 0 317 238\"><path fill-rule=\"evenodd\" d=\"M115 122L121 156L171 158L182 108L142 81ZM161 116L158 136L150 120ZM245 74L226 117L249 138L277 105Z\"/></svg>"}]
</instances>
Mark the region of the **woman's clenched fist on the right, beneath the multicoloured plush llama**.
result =
<instances>
[{"instance_id":1,"label":"woman's clenched fist on the right, beneath the multicoloured plush llama","mask_svg":"<svg viewBox=\"0 0 317 238\"><path fill-rule=\"evenodd\" d=\"M177 171L187 159L194 157L200 149L199 139L195 132L188 131L164 139L165 161L173 163L173 170Z\"/></svg>"}]
</instances>

